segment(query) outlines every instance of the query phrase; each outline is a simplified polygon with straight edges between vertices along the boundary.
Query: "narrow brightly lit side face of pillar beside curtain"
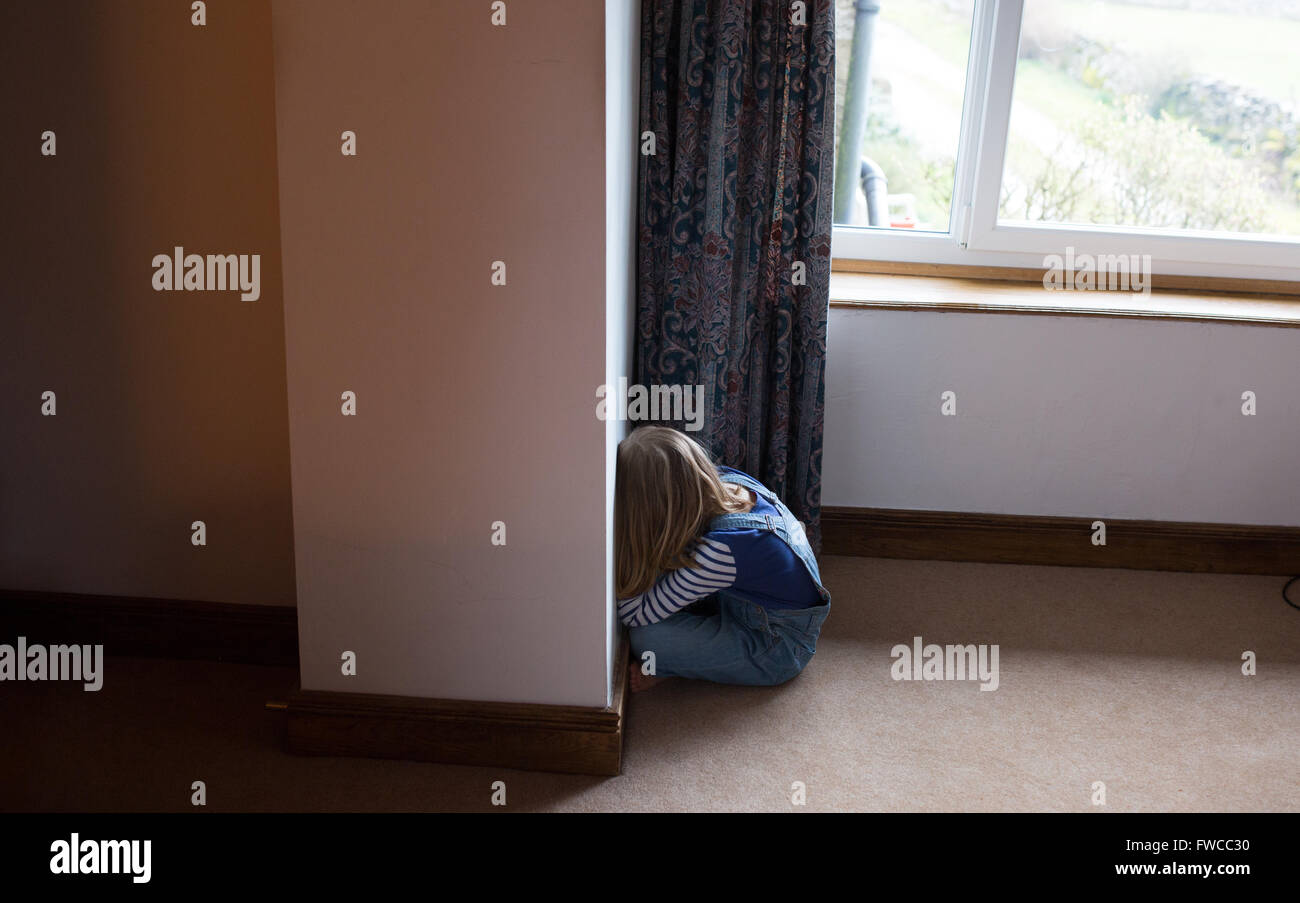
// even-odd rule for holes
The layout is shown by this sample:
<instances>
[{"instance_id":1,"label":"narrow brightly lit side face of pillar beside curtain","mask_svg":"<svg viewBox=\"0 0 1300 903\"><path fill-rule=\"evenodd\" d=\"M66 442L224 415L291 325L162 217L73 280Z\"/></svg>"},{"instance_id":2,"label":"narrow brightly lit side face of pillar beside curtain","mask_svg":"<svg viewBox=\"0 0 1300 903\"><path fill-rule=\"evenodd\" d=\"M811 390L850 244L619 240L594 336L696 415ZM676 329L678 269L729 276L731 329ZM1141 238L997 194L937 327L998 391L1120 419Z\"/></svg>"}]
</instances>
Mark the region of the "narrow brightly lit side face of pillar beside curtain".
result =
<instances>
[{"instance_id":1,"label":"narrow brightly lit side face of pillar beside curtain","mask_svg":"<svg viewBox=\"0 0 1300 903\"><path fill-rule=\"evenodd\" d=\"M641 91L641 10L629 0L604 0L604 385L632 374L632 331L636 322L637 136ZM619 440L627 422L607 420L604 430L604 556L607 657L614 699L614 656L620 637L614 605L614 474Z\"/></svg>"}]
</instances>

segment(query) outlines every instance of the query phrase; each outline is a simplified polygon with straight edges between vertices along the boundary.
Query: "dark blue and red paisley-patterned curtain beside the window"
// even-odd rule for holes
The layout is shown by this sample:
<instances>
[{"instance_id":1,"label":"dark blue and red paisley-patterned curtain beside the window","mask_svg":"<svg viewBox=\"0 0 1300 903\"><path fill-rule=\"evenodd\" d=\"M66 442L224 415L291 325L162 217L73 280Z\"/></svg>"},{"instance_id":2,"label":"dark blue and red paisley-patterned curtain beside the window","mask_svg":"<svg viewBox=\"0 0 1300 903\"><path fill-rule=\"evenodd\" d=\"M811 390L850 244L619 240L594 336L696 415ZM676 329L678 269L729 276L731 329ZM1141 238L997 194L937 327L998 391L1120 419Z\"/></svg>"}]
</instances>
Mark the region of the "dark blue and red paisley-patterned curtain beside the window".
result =
<instances>
[{"instance_id":1,"label":"dark blue and red paisley-patterned curtain beside the window","mask_svg":"<svg viewBox=\"0 0 1300 903\"><path fill-rule=\"evenodd\" d=\"M833 0L642 0L646 131L637 382L703 385L692 435L820 548Z\"/></svg>"}]
</instances>

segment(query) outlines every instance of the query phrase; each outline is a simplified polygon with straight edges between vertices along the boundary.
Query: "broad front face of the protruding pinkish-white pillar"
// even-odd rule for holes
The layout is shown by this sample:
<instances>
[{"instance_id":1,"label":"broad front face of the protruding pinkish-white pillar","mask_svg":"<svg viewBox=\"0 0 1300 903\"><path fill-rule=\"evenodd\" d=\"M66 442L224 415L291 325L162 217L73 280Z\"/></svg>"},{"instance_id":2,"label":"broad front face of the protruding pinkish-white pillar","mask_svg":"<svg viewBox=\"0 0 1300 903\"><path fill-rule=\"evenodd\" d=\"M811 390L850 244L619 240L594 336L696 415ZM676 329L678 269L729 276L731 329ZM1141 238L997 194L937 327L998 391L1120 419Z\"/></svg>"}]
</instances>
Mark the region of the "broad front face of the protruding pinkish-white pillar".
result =
<instances>
[{"instance_id":1,"label":"broad front face of the protruding pinkish-white pillar","mask_svg":"<svg viewBox=\"0 0 1300 903\"><path fill-rule=\"evenodd\" d=\"M273 5L304 689L607 704L603 5Z\"/></svg>"}]
</instances>

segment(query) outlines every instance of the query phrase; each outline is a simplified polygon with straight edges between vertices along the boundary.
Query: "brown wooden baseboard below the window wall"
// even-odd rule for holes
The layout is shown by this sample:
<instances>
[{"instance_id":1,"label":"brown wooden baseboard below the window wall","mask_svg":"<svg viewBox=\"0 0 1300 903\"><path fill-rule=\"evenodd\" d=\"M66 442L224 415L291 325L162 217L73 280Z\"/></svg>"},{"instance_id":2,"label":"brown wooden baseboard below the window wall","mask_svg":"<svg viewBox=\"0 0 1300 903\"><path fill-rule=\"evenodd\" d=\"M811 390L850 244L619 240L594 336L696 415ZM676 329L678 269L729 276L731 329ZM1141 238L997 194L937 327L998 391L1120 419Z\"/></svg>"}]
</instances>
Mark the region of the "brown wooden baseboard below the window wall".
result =
<instances>
[{"instance_id":1,"label":"brown wooden baseboard below the window wall","mask_svg":"<svg viewBox=\"0 0 1300 903\"><path fill-rule=\"evenodd\" d=\"M1106 544L1092 544L1093 521ZM1300 528L1030 517L897 508L822 509L822 552L1223 574L1300 573Z\"/></svg>"}]
</instances>

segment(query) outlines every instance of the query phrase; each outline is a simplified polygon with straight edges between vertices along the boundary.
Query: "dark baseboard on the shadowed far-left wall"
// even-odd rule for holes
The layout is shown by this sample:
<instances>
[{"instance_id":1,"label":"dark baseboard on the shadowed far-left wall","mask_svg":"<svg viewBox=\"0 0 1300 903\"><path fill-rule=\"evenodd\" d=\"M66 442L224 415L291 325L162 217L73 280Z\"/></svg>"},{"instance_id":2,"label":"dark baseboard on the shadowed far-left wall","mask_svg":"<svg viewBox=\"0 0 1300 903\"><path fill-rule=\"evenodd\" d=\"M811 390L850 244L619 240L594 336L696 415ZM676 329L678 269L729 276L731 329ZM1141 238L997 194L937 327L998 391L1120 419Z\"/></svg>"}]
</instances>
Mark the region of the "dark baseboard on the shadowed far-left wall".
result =
<instances>
[{"instance_id":1,"label":"dark baseboard on the shadowed far-left wall","mask_svg":"<svg viewBox=\"0 0 1300 903\"><path fill-rule=\"evenodd\" d=\"M298 609L191 599L0 590L0 638L104 655L298 667Z\"/></svg>"}]
</instances>

